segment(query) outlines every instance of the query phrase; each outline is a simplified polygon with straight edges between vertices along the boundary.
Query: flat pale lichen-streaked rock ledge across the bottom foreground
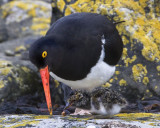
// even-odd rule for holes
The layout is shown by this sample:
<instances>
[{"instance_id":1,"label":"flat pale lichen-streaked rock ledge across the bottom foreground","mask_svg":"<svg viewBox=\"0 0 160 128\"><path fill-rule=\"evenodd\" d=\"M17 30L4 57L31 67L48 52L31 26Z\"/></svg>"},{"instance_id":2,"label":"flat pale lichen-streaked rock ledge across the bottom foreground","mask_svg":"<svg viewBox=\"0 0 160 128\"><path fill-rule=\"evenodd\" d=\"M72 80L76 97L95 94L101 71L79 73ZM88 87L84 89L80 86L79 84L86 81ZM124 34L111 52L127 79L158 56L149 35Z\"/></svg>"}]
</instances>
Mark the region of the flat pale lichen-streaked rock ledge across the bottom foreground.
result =
<instances>
[{"instance_id":1,"label":"flat pale lichen-streaked rock ledge across the bottom foreground","mask_svg":"<svg viewBox=\"0 0 160 128\"><path fill-rule=\"evenodd\" d=\"M126 114L108 119L92 116L47 116L47 115L1 115L0 127L38 127L38 128L159 128L158 114Z\"/></svg>"}]
</instances>

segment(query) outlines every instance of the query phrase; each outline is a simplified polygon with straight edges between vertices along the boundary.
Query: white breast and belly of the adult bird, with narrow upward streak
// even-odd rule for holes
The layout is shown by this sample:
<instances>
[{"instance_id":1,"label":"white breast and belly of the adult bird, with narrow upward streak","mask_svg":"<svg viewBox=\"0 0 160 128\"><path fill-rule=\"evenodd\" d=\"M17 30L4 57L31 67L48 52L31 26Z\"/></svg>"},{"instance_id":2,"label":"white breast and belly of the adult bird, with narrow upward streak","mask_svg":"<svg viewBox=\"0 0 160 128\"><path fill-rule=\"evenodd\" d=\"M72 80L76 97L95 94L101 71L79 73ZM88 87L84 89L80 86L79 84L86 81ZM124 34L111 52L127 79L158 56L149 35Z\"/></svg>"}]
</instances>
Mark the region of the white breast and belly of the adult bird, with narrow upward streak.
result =
<instances>
[{"instance_id":1,"label":"white breast and belly of the adult bird, with narrow upward streak","mask_svg":"<svg viewBox=\"0 0 160 128\"><path fill-rule=\"evenodd\" d=\"M62 79L57 75L55 75L53 72L50 72L50 75L54 79L70 86L72 89L87 89L88 91L91 91L95 87L104 84L114 74L115 66L110 66L103 61L105 57L105 52L104 52L105 39L103 38L103 36L101 41L102 41L102 50L100 58L96 63L96 65L91 68L90 73L86 76L86 78L82 80L71 81Z\"/></svg>"}]
</instances>

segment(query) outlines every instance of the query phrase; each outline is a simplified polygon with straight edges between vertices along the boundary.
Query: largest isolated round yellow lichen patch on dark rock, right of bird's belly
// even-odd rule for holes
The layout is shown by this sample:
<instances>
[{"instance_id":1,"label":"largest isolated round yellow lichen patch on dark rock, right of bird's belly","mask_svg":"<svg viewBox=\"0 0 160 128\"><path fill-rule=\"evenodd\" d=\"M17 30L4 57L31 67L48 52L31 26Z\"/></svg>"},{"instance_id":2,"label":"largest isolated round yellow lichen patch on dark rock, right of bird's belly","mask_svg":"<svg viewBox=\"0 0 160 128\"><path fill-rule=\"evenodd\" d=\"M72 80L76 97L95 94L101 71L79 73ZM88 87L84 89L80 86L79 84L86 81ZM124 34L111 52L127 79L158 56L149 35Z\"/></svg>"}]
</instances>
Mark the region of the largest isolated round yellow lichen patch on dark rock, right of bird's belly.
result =
<instances>
[{"instance_id":1,"label":"largest isolated round yellow lichen patch on dark rock, right of bird's belly","mask_svg":"<svg viewBox=\"0 0 160 128\"><path fill-rule=\"evenodd\" d=\"M132 73L135 81L142 82L143 77L147 75L146 66L143 66L142 64L134 65L132 67ZM147 80L147 78L145 78L144 80ZM146 82L149 82L149 81L146 81Z\"/></svg>"}]
</instances>

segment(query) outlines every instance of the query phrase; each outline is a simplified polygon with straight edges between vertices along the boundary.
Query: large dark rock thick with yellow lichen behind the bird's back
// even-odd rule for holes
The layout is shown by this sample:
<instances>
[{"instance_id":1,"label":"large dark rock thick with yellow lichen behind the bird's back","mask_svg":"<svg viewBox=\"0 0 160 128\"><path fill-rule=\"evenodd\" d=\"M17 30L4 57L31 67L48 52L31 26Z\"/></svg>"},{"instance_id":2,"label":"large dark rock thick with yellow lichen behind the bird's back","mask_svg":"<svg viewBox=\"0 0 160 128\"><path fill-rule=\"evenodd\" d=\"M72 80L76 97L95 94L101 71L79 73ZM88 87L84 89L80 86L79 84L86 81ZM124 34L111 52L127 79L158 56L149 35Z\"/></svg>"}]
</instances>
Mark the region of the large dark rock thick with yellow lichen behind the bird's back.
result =
<instances>
[{"instance_id":1,"label":"large dark rock thick with yellow lichen behind the bird's back","mask_svg":"<svg viewBox=\"0 0 160 128\"><path fill-rule=\"evenodd\" d=\"M124 43L122 59L104 86L134 101L160 97L159 0L54 0L52 5L64 15L93 12L125 21L116 25Z\"/></svg>"}]
</instances>

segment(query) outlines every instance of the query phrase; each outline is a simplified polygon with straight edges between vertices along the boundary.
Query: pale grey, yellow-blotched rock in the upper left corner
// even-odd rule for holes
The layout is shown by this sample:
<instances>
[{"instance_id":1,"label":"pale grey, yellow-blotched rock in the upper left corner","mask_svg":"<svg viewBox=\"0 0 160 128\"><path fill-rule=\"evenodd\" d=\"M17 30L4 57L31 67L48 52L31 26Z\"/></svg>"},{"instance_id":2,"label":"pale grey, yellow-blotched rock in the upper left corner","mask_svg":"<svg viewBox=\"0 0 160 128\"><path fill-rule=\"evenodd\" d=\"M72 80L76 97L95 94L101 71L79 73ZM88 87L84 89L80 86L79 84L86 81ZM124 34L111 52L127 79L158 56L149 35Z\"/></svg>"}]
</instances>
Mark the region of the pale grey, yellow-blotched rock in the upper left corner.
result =
<instances>
[{"instance_id":1,"label":"pale grey, yellow-blotched rock in the upper left corner","mask_svg":"<svg viewBox=\"0 0 160 128\"><path fill-rule=\"evenodd\" d=\"M3 4L1 9L9 38L45 35L49 29L51 5L48 2L12 0Z\"/></svg>"}]
</instances>

